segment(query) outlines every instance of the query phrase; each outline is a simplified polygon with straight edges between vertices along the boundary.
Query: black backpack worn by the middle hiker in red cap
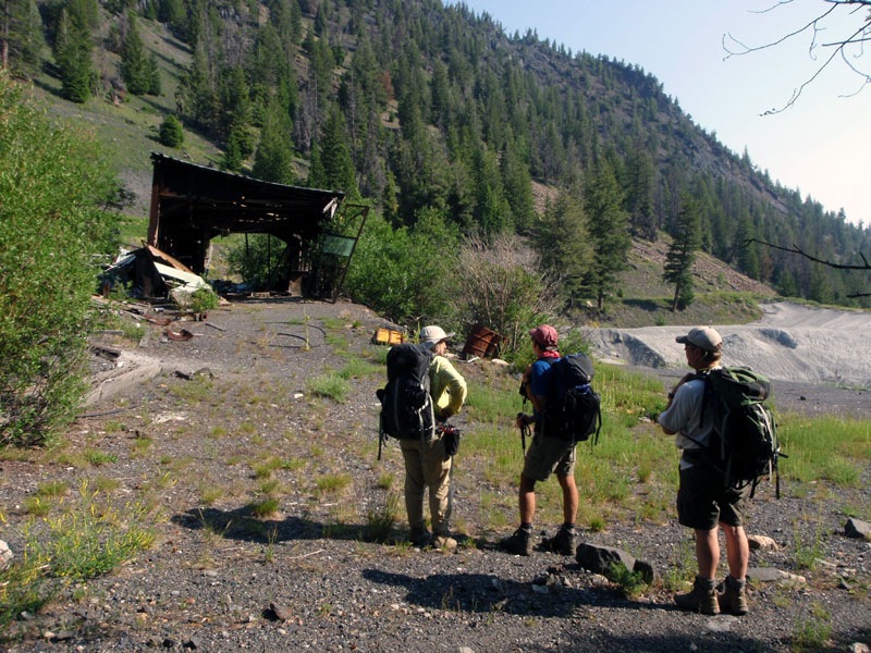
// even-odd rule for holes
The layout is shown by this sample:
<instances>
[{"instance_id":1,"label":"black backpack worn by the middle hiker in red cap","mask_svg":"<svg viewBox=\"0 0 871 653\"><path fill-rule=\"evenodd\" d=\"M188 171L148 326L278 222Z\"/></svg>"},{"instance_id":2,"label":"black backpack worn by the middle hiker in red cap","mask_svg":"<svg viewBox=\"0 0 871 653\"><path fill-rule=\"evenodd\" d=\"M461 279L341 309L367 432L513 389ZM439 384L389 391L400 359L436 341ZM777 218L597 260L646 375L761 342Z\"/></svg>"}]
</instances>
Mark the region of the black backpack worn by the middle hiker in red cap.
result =
<instances>
[{"instance_id":1,"label":"black backpack worn by the middle hiker in red cap","mask_svg":"<svg viewBox=\"0 0 871 653\"><path fill-rule=\"evenodd\" d=\"M541 422L542 433L584 442L593 433L593 442L599 442L602 429L602 399L590 386L593 374L592 361L585 354L569 354L551 364L551 371L556 374L555 386L565 387L565 397L548 399L544 418Z\"/></svg>"}]
</instances>

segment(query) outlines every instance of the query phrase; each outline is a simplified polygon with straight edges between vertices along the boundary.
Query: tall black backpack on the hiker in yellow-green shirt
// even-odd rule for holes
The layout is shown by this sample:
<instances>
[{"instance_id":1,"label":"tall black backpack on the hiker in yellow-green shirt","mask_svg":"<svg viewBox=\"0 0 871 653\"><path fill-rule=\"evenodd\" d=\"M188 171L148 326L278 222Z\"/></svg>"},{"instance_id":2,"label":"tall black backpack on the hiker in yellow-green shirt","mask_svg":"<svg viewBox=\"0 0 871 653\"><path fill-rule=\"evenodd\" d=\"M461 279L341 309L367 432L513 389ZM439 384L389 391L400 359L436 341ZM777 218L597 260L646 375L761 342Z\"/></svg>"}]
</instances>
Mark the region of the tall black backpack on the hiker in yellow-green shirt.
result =
<instances>
[{"instance_id":1,"label":"tall black backpack on the hiker in yellow-green shirt","mask_svg":"<svg viewBox=\"0 0 871 653\"><path fill-rule=\"evenodd\" d=\"M380 432L400 440L428 440L436 419L429 396L432 352L405 343L388 352L388 384L376 394L381 401Z\"/></svg>"}]
</instances>

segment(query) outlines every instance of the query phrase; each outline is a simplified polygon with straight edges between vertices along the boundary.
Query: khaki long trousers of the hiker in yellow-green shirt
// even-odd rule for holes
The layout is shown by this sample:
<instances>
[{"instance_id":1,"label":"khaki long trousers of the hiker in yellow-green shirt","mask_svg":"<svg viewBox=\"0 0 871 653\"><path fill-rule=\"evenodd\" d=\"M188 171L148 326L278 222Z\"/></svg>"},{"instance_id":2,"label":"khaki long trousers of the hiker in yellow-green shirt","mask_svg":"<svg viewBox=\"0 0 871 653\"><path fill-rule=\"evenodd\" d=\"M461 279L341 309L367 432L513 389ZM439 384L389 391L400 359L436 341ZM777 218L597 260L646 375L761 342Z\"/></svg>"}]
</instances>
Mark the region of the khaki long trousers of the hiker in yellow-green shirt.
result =
<instances>
[{"instance_id":1,"label":"khaki long trousers of the hiker in yellow-green shirt","mask_svg":"<svg viewBox=\"0 0 871 653\"><path fill-rule=\"evenodd\" d=\"M432 532L447 534L451 519L451 463L445 459L441 435L433 435L424 445L424 460L420 460L419 440L400 440L405 458L405 510L412 530L422 530L424 491L429 488L429 512Z\"/></svg>"}]
</instances>

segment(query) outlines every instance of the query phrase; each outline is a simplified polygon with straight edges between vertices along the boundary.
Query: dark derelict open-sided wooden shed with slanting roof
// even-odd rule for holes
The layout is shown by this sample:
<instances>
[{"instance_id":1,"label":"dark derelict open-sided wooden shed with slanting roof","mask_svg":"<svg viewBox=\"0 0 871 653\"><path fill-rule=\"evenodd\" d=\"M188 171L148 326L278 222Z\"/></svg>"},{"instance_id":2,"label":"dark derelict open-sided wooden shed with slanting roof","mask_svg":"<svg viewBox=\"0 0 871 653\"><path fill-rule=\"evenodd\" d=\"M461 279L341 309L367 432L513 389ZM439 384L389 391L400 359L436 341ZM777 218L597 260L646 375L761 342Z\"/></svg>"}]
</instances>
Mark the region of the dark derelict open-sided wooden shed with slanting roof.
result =
<instances>
[{"instance_id":1,"label":"dark derelict open-sided wooden shed with slanting roof","mask_svg":"<svg viewBox=\"0 0 871 653\"><path fill-rule=\"evenodd\" d=\"M156 152L151 160L149 245L204 274L212 238L268 234L278 242L263 289L335 299L368 207L346 202L341 190L265 182Z\"/></svg>"}]
</instances>

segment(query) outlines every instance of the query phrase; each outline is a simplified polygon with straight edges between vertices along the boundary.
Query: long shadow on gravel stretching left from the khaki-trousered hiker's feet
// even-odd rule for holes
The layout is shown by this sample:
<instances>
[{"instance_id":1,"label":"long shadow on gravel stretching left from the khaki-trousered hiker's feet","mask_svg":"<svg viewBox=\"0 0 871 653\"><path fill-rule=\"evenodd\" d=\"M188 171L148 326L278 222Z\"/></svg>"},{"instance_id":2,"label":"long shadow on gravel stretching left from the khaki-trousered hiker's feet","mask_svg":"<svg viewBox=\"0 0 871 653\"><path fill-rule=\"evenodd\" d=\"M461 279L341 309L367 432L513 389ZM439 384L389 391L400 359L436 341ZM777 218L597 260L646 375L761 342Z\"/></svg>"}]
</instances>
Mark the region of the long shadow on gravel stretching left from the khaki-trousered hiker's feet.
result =
<instances>
[{"instance_id":1,"label":"long shadow on gravel stretching left from the khaki-trousered hiker's feet","mask_svg":"<svg viewBox=\"0 0 871 653\"><path fill-rule=\"evenodd\" d=\"M363 540L366 527L356 523L323 523L306 516L283 519L257 517L249 506L234 510L191 508L170 521L191 530L208 530L228 540L274 544L298 540Z\"/></svg>"}]
</instances>

